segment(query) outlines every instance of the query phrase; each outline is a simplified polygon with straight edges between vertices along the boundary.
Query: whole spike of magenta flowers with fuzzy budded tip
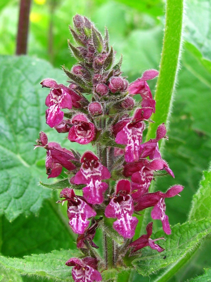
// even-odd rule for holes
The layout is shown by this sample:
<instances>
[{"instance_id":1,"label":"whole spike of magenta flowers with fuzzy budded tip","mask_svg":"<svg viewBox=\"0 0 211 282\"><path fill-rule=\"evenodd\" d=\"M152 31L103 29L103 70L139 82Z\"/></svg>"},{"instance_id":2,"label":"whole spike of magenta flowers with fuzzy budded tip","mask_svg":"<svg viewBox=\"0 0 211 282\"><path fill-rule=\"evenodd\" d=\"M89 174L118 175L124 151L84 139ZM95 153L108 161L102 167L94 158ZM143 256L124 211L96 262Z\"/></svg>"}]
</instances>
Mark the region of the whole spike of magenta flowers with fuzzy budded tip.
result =
<instances>
[{"instance_id":1,"label":"whole spike of magenta flowers with fuzzy budded tip","mask_svg":"<svg viewBox=\"0 0 211 282\"><path fill-rule=\"evenodd\" d=\"M93 251L98 248L93 242L96 229L105 225L108 218L114 218L113 232L129 239L124 240L128 242L124 248L129 256L135 257L134 253L146 246L162 252L164 249L154 242L164 238L150 238L152 222L146 227L147 234L132 242L138 224L134 212L153 207L152 219L161 220L163 231L171 234L165 198L179 194L183 186L174 185L166 193L149 192L158 170L174 177L158 147L159 140L167 138L164 123L158 126L156 138L143 142L143 131L155 112L147 81L158 76L158 71L147 70L129 84L120 69L122 59L114 62L115 52L109 47L107 30L103 38L86 17L76 15L70 32L77 46L70 42L68 45L79 63L70 71L63 67L68 86L50 78L41 82L50 88L46 123L58 133L68 133L70 142L92 143L95 151L79 156L58 143L48 143L43 132L36 147L47 151L48 177L60 175L63 167L68 170L69 185L60 192L62 200L58 202L67 202L69 226L78 234L77 248L88 257L71 258L66 265L73 266L76 282L101 281L98 268L106 269L108 261ZM92 98L88 100L86 94ZM140 94L141 102L135 102L136 94ZM82 189L80 195L75 189ZM106 226L102 229L107 232ZM121 248L115 249L118 252ZM123 265L121 253L126 252L113 255L113 266Z\"/></svg>"}]
</instances>

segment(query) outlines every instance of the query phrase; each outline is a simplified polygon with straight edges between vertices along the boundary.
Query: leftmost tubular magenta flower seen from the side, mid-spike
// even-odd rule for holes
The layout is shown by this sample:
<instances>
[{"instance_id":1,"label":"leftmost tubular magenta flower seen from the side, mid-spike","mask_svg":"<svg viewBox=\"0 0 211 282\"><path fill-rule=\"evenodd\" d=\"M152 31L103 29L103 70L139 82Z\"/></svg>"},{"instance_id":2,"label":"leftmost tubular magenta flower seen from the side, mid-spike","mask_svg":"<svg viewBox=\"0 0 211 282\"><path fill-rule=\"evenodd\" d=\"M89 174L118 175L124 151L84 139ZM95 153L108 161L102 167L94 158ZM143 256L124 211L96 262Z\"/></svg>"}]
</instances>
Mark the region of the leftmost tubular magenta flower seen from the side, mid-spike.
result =
<instances>
[{"instance_id":1,"label":"leftmost tubular magenta flower seen from the side, mid-spike","mask_svg":"<svg viewBox=\"0 0 211 282\"><path fill-rule=\"evenodd\" d=\"M74 170L76 166L71 163L71 160L77 161L73 153L65 148L62 148L58 143L50 142L48 143L47 135L41 131L40 139L37 141L37 147L43 147L46 149L46 174L48 178L57 177L62 172L62 167L67 170Z\"/></svg>"}]
</instances>

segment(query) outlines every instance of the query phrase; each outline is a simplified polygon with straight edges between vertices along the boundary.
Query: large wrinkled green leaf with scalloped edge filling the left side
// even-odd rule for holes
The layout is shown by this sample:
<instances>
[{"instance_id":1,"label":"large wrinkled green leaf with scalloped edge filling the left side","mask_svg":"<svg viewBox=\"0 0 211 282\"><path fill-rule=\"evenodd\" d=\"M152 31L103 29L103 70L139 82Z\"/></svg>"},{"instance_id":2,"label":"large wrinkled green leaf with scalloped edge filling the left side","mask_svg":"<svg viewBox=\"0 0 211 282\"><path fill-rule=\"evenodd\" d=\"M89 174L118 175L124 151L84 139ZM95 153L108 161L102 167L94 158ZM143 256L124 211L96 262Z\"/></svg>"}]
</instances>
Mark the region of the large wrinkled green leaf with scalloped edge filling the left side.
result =
<instances>
[{"instance_id":1,"label":"large wrinkled green leaf with scalloped edge filling the left side","mask_svg":"<svg viewBox=\"0 0 211 282\"><path fill-rule=\"evenodd\" d=\"M37 213L51 192L38 186L45 175L37 165L44 150L33 151L45 124L45 98L48 89L39 85L46 77L64 82L61 71L43 60L0 57L0 214L12 221L20 214Z\"/></svg>"}]
</instances>

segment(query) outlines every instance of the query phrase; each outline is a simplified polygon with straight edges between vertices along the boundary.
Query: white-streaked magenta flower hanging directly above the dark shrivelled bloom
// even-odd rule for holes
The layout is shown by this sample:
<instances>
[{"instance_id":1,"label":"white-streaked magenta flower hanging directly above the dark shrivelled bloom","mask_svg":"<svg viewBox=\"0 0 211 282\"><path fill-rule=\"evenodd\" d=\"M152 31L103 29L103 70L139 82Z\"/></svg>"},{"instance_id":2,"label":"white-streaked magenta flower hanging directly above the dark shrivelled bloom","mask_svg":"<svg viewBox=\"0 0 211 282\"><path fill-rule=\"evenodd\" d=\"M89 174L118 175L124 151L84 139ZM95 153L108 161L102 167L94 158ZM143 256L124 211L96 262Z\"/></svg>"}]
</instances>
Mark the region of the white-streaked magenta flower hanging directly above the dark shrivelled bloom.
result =
<instances>
[{"instance_id":1,"label":"white-streaked magenta flower hanging directly above the dark shrivelled bloom","mask_svg":"<svg viewBox=\"0 0 211 282\"><path fill-rule=\"evenodd\" d=\"M89 226L89 217L96 216L95 210L83 200L83 197L76 196L73 189L65 188L60 192L60 198L68 201L69 226L74 233L83 234Z\"/></svg>"}]
</instances>

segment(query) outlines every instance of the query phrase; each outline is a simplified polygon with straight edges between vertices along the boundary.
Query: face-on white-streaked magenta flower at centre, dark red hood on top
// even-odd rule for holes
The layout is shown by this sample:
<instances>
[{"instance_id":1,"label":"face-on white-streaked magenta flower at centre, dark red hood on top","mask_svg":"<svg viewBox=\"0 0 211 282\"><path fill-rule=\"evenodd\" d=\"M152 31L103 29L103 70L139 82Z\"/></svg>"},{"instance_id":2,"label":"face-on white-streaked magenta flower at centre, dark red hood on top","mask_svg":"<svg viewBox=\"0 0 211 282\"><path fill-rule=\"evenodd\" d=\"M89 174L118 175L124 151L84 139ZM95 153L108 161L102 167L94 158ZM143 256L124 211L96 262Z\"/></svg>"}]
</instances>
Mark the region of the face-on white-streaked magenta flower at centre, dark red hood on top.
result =
<instances>
[{"instance_id":1,"label":"face-on white-streaked magenta flower at centre, dark red hood on top","mask_svg":"<svg viewBox=\"0 0 211 282\"><path fill-rule=\"evenodd\" d=\"M111 177L109 170L90 151L83 154L81 163L81 168L75 175L74 183L87 185L83 188L83 197L88 203L102 204L104 201L103 194L108 188L108 184L101 180Z\"/></svg>"}]
</instances>

